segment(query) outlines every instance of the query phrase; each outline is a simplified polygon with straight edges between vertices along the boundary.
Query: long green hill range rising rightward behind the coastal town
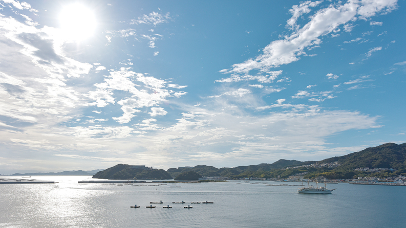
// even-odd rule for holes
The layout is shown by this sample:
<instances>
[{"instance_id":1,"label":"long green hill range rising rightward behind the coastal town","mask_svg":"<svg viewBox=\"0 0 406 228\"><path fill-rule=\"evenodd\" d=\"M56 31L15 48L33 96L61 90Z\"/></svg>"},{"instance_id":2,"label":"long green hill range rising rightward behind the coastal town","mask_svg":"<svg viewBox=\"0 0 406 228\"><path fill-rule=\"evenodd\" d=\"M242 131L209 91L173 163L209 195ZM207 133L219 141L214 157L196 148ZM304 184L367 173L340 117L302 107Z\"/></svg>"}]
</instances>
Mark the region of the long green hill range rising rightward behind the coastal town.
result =
<instances>
[{"instance_id":1,"label":"long green hill range rising rightward behind the coastal town","mask_svg":"<svg viewBox=\"0 0 406 228\"><path fill-rule=\"evenodd\" d=\"M334 163L340 164L338 167L328 168L322 166L316 167L298 167L291 169L282 169L286 167L296 167L311 164ZM388 170L380 173L354 171L356 168L392 168L397 171ZM177 176L183 172L195 171L202 176L227 176L230 178L287 178L297 173L305 173L305 178L314 178L324 176L329 179L347 179L357 176L377 176L387 177L394 175L406 175L406 143L397 145L387 143L377 147L367 148L358 152L350 153L344 156L331 157L322 161L300 162L296 160L280 159L272 164L262 163L259 165L239 166L233 168L216 168L213 166L195 166L193 168L168 169L168 173ZM303 175L303 174L302 174Z\"/></svg>"}]
</instances>

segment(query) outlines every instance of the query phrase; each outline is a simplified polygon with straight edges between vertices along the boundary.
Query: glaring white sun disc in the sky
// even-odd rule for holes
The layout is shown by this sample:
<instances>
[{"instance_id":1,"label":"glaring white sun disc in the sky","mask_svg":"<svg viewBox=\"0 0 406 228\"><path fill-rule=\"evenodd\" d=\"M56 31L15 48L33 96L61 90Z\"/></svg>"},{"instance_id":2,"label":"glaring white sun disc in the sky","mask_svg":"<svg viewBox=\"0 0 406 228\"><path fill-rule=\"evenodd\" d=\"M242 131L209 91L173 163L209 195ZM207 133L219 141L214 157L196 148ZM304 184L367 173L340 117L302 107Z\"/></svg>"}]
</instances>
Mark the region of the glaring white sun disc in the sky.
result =
<instances>
[{"instance_id":1,"label":"glaring white sun disc in the sky","mask_svg":"<svg viewBox=\"0 0 406 228\"><path fill-rule=\"evenodd\" d=\"M90 37L96 28L94 12L79 3L63 7L59 14L59 22L63 35L73 40Z\"/></svg>"}]
</instances>

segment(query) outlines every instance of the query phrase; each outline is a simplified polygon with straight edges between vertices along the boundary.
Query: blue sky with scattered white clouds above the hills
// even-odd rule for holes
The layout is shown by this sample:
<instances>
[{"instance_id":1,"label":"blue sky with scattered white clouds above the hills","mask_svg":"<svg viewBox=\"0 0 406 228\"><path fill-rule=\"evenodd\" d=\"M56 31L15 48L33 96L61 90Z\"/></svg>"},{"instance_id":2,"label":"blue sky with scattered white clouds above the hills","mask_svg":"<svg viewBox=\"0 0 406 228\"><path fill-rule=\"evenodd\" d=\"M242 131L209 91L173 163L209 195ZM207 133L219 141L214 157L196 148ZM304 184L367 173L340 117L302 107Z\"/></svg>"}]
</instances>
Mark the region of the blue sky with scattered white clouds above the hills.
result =
<instances>
[{"instance_id":1,"label":"blue sky with scattered white clouds above the hills","mask_svg":"<svg viewBox=\"0 0 406 228\"><path fill-rule=\"evenodd\" d=\"M406 142L406 3L0 0L0 173Z\"/></svg>"}]
</instances>

